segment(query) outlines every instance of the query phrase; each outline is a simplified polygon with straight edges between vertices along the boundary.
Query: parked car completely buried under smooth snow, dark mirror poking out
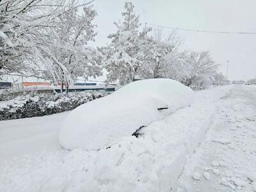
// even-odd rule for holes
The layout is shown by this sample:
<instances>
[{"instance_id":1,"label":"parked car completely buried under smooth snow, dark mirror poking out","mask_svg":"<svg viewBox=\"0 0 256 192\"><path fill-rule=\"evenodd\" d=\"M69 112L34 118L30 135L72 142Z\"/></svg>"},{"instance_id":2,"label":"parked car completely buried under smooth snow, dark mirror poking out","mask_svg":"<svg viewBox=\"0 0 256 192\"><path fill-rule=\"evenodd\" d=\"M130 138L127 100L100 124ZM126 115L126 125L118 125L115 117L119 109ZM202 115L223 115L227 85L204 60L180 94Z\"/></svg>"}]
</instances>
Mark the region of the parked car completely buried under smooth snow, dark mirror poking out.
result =
<instances>
[{"instance_id":1,"label":"parked car completely buried under smooth snow, dark mirror poking out","mask_svg":"<svg viewBox=\"0 0 256 192\"><path fill-rule=\"evenodd\" d=\"M74 109L60 129L68 149L107 148L137 129L193 102L193 91L172 79L146 79Z\"/></svg>"}]
</instances>

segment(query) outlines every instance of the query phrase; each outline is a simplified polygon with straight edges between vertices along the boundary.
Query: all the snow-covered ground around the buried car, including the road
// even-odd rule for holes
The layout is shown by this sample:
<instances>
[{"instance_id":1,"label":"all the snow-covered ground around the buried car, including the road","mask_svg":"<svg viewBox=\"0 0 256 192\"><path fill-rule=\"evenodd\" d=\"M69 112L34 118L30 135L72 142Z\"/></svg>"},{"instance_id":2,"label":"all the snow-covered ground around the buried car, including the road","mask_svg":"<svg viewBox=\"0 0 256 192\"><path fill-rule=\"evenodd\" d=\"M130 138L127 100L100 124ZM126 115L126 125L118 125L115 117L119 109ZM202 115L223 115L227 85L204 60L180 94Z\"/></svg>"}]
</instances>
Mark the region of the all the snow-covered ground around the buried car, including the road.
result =
<instances>
[{"instance_id":1,"label":"all the snow-covered ground around the buried car, including the road","mask_svg":"<svg viewBox=\"0 0 256 192\"><path fill-rule=\"evenodd\" d=\"M196 98L99 152L60 147L68 112L2 121L0 191L256 191L256 86Z\"/></svg>"}]
</instances>

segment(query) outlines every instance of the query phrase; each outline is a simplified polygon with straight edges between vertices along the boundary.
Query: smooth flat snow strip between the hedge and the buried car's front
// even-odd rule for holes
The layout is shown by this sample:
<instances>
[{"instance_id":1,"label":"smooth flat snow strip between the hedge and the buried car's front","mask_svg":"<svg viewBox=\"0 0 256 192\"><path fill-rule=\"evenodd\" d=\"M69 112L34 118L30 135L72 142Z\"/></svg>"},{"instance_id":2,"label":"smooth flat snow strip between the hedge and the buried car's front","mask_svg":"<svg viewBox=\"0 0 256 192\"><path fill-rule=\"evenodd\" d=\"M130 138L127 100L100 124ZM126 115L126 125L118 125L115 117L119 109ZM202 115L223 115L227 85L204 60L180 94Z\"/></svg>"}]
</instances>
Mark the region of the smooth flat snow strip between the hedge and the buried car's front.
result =
<instances>
[{"instance_id":1,"label":"smooth flat snow strip between the hedge and the buried car's front","mask_svg":"<svg viewBox=\"0 0 256 192\"><path fill-rule=\"evenodd\" d=\"M58 129L67 114L0 121L0 163L22 154L60 148Z\"/></svg>"}]
</instances>

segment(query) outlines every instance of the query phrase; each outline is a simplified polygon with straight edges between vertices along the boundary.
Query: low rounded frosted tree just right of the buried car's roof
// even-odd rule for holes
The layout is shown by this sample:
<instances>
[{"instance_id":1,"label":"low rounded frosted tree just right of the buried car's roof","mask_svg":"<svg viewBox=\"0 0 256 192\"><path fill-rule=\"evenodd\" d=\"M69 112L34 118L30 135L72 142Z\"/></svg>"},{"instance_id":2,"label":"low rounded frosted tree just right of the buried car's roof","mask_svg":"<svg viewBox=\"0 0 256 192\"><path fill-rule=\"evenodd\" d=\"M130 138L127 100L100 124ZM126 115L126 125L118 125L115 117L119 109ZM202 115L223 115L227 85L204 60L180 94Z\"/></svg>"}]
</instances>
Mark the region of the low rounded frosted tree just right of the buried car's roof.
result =
<instances>
[{"instance_id":1,"label":"low rounded frosted tree just right of the buried car's roof","mask_svg":"<svg viewBox=\"0 0 256 192\"><path fill-rule=\"evenodd\" d=\"M173 51L168 58L165 77L187 86L205 88L214 84L215 78L220 78L216 75L218 65L207 51Z\"/></svg>"}]
</instances>

